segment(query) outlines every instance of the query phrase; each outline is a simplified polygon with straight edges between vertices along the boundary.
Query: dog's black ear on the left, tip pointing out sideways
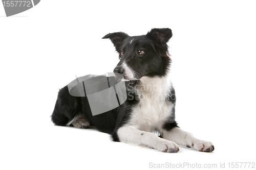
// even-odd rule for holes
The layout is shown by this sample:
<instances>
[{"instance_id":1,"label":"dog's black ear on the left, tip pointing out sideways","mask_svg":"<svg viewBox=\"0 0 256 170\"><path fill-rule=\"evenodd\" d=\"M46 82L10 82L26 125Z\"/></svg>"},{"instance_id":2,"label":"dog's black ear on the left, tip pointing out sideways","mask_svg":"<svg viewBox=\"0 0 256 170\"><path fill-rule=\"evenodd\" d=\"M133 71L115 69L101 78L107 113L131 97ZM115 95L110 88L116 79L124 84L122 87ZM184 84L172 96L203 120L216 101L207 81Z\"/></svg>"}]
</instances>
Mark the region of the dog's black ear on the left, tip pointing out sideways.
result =
<instances>
[{"instance_id":1,"label":"dog's black ear on the left, tip pointing out sideways","mask_svg":"<svg viewBox=\"0 0 256 170\"><path fill-rule=\"evenodd\" d=\"M109 34L105 35L103 37L103 39L109 38L112 41L112 43L114 44L114 46L116 47L116 51L120 53L121 47L123 44L123 40L127 37L129 37L129 35L127 35L123 32L117 32L117 33L109 33Z\"/></svg>"}]
</instances>

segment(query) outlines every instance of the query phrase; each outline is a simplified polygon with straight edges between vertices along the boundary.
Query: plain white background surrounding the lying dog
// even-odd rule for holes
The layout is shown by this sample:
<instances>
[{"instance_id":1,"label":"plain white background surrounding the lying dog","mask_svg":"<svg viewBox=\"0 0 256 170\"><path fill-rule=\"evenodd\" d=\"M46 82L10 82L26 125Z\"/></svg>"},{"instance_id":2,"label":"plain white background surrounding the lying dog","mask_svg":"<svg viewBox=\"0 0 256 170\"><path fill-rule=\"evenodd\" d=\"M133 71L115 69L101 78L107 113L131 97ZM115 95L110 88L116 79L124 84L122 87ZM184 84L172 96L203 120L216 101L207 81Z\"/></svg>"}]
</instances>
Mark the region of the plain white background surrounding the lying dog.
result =
<instances>
[{"instance_id":1,"label":"plain white background surrounding the lying dog","mask_svg":"<svg viewBox=\"0 0 256 170\"><path fill-rule=\"evenodd\" d=\"M0 5L1 169L255 162L255 1L87 2L41 1L12 17ZM214 143L212 153L185 147L161 153L50 120L59 88L75 75L101 75L118 63L111 41L101 39L105 34L152 28L173 30L177 122Z\"/></svg>"}]
</instances>

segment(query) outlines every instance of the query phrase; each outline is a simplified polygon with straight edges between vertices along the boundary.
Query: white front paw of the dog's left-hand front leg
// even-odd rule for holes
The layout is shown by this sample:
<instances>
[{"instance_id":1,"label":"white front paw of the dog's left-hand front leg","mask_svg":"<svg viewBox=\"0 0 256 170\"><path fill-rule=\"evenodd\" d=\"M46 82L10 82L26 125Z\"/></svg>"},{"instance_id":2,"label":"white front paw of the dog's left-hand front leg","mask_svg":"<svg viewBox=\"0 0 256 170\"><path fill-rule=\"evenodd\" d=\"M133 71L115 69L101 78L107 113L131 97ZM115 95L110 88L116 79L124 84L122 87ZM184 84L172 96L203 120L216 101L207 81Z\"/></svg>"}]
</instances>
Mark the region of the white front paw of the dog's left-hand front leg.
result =
<instances>
[{"instance_id":1,"label":"white front paw of the dog's left-hand front leg","mask_svg":"<svg viewBox=\"0 0 256 170\"><path fill-rule=\"evenodd\" d=\"M162 152L176 153L179 152L179 146L173 141L162 140L158 142L156 149Z\"/></svg>"}]
</instances>

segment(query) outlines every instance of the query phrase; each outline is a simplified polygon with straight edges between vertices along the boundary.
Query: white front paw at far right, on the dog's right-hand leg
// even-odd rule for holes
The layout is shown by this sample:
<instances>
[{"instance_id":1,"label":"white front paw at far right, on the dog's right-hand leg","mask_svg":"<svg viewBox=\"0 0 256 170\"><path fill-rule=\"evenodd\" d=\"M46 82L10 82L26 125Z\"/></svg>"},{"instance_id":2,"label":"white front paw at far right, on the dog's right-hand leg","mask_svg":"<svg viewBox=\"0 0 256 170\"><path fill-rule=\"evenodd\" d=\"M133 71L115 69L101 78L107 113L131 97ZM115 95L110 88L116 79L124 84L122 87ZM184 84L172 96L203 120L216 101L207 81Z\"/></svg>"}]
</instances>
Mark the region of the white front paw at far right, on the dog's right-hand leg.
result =
<instances>
[{"instance_id":1,"label":"white front paw at far right, on the dog's right-hand leg","mask_svg":"<svg viewBox=\"0 0 256 170\"><path fill-rule=\"evenodd\" d=\"M201 152L212 152L214 151L214 144L206 140L196 140L191 143L191 146L187 145L187 147L191 147L197 151Z\"/></svg>"}]
</instances>

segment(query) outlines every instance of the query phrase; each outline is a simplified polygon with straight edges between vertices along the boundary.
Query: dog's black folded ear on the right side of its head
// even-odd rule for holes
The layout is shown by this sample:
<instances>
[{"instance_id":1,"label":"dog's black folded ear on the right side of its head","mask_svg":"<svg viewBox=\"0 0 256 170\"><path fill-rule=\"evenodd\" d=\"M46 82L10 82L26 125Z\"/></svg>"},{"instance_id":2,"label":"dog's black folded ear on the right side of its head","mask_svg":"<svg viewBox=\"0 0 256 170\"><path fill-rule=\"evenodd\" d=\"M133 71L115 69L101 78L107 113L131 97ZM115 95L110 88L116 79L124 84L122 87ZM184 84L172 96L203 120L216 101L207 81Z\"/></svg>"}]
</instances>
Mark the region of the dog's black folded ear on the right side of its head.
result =
<instances>
[{"instance_id":1,"label":"dog's black folded ear on the right side of its head","mask_svg":"<svg viewBox=\"0 0 256 170\"><path fill-rule=\"evenodd\" d=\"M158 46L162 46L162 44L168 42L168 40L173 36L173 33L172 30L168 28L152 29L146 34L146 36L153 39Z\"/></svg>"}]
</instances>

